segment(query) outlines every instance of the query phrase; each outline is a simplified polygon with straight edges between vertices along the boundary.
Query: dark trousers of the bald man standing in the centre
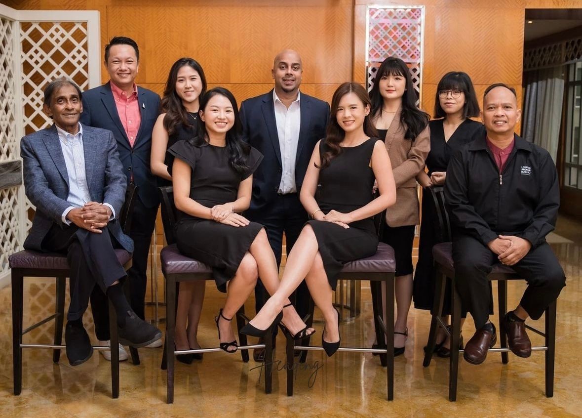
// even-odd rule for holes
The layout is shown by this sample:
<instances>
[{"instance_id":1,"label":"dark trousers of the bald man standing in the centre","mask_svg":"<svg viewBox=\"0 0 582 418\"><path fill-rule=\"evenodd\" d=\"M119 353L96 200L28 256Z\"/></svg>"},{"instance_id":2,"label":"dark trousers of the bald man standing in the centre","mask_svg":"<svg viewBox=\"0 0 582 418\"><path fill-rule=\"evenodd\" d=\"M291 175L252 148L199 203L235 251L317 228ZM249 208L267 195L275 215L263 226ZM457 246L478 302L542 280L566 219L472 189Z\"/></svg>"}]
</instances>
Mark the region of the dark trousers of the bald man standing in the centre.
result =
<instances>
[{"instance_id":1,"label":"dark trousers of the bald man standing in the centre","mask_svg":"<svg viewBox=\"0 0 582 418\"><path fill-rule=\"evenodd\" d=\"M249 213L247 215L251 221L258 222L267 229L269 244L275 253L277 267L281 265L283 232L285 232L286 252L289 256L293 245L299 238L303 225L308 219L307 212L299 201L299 193L278 194L272 206L269 207L269 214ZM300 317L309 313L309 297L305 281L301 282L290 297ZM267 299L269 299L269 293L262 282L258 281L257 286L255 286L255 309L257 312L261 310Z\"/></svg>"}]
</instances>

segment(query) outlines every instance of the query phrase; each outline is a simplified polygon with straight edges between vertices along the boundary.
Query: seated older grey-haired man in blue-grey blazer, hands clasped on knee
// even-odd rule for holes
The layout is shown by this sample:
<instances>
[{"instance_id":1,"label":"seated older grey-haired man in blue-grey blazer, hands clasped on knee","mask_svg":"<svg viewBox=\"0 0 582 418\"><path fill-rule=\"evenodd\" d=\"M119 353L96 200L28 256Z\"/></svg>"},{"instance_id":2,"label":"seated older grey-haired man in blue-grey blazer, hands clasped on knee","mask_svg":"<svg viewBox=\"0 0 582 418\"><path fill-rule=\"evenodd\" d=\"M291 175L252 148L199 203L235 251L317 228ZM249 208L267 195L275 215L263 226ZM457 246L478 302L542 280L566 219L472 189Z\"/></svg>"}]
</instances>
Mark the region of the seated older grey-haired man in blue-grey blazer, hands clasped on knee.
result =
<instances>
[{"instance_id":1,"label":"seated older grey-haired man in blue-grey blazer, hands clasped on knee","mask_svg":"<svg viewBox=\"0 0 582 418\"><path fill-rule=\"evenodd\" d=\"M65 343L69 362L76 366L93 354L82 318L95 285L115 306L120 341L139 347L159 339L161 332L136 316L120 285L126 273L114 247L131 252L133 242L116 222L126 181L113 135L79 123L81 91L68 79L48 85L43 108L54 125L21 142L26 196L37 208L24 248L67 254Z\"/></svg>"}]
</instances>

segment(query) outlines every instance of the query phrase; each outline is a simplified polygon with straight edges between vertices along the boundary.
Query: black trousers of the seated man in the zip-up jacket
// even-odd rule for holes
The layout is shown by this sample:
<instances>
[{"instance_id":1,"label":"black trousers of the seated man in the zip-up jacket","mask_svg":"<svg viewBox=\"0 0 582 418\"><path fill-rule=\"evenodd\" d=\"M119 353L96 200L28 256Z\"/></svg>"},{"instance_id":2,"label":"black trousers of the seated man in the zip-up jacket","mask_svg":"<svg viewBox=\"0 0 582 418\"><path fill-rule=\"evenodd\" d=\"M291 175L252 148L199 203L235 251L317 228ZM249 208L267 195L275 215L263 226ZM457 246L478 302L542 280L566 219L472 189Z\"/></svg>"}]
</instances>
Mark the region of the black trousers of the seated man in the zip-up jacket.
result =
<instances>
[{"instance_id":1,"label":"black trousers of the seated man in the zip-up jacket","mask_svg":"<svg viewBox=\"0 0 582 418\"><path fill-rule=\"evenodd\" d=\"M479 240L462 235L453 238L453 261L457 290L463 305L473 316L475 328L478 330L489 319L491 286L487 275L499 260L497 255ZM566 285L566 276L558 258L548 243L544 242L532 248L512 267L528 284L520 305L531 318L537 320L546 307L558 299L560 291Z\"/></svg>"}]
</instances>

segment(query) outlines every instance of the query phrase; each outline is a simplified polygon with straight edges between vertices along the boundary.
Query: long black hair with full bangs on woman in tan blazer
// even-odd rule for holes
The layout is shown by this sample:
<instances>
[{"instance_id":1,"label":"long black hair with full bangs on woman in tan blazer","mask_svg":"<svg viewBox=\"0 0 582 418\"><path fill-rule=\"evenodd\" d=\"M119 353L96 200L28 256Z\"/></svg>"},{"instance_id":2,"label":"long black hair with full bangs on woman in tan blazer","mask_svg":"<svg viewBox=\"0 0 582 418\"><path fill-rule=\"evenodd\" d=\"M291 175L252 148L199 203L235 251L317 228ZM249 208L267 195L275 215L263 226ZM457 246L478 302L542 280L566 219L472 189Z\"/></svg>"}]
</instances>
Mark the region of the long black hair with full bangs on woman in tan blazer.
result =
<instances>
[{"instance_id":1,"label":"long black hair with full bangs on woman in tan blazer","mask_svg":"<svg viewBox=\"0 0 582 418\"><path fill-rule=\"evenodd\" d=\"M370 91L370 98L372 100L371 114L375 118L382 111L384 99L380 94L380 79L384 76L402 76L406 79L406 87L404 87L404 95L402 96L400 126L406 129L404 138L414 141L418 134L423 132L424 128L427 127L430 116L427 112L416 107L418 97L416 91L414 91L410 70L402 59L391 56L386 58L380 65L380 68L378 68L374 86L372 87L372 91Z\"/></svg>"}]
</instances>

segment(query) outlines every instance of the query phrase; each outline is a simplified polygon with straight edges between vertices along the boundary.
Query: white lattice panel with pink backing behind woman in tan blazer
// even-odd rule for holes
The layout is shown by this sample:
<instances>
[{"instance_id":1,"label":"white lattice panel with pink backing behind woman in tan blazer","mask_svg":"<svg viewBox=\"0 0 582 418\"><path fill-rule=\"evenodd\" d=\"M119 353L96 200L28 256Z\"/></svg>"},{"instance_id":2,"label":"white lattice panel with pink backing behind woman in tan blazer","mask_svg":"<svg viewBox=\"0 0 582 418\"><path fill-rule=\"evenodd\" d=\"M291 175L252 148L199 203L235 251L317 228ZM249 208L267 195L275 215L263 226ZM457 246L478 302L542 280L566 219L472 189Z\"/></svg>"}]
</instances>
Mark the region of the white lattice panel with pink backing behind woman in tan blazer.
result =
<instances>
[{"instance_id":1,"label":"white lattice panel with pink backing behind woman in tan blazer","mask_svg":"<svg viewBox=\"0 0 582 418\"><path fill-rule=\"evenodd\" d=\"M378 67L389 56L406 62L421 97L424 6L367 6L366 80L374 86Z\"/></svg>"}]
</instances>

